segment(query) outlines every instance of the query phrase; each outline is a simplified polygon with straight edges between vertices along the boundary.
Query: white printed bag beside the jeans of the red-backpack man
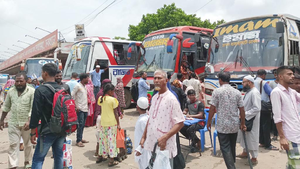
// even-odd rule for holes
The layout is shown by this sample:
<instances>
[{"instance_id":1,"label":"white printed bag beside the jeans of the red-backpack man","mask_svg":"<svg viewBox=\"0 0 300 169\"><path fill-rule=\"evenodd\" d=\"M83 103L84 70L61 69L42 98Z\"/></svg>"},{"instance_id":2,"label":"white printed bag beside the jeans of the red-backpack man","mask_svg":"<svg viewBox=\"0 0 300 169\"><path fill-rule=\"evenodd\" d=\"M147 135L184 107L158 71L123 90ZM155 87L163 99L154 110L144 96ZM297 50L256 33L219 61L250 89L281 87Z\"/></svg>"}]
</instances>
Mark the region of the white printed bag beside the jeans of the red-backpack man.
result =
<instances>
[{"instance_id":1,"label":"white printed bag beside the jeans of the red-backpack man","mask_svg":"<svg viewBox=\"0 0 300 169\"><path fill-rule=\"evenodd\" d=\"M72 167L72 140L66 137L66 141L63 146L64 152L64 169L73 169Z\"/></svg>"}]
</instances>

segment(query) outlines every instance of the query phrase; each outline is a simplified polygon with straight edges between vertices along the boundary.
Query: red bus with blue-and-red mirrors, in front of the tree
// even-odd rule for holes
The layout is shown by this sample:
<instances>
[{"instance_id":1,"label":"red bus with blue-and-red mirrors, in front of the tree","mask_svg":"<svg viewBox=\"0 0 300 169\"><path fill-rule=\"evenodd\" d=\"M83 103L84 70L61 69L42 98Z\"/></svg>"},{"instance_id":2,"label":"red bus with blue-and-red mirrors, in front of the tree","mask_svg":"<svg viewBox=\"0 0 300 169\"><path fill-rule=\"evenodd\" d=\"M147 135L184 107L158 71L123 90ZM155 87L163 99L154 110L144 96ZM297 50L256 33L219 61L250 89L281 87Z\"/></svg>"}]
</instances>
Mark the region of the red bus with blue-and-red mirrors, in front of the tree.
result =
<instances>
[{"instance_id":1,"label":"red bus with blue-and-red mirrors, in front of the tree","mask_svg":"<svg viewBox=\"0 0 300 169\"><path fill-rule=\"evenodd\" d=\"M140 46L132 82L136 83L140 73L146 72L146 81L150 84L148 93L152 95L155 70L170 72L173 81L180 72L182 60L188 61L189 69L203 75L212 31L193 26L165 28L146 35L141 44L130 45Z\"/></svg>"}]
</instances>

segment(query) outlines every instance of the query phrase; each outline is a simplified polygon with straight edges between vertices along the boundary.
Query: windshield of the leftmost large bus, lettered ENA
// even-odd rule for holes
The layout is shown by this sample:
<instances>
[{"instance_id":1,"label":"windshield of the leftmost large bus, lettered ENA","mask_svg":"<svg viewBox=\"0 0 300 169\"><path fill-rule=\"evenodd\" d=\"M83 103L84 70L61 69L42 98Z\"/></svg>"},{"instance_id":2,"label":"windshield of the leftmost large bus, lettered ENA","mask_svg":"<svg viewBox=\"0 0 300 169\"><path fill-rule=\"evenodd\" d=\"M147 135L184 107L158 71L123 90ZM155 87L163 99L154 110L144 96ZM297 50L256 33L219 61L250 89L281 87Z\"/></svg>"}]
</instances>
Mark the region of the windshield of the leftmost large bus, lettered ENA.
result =
<instances>
[{"instance_id":1,"label":"windshield of the leftmost large bus, lettered ENA","mask_svg":"<svg viewBox=\"0 0 300 169\"><path fill-rule=\"evenodd\" d=\"M42 80L42 66L46 63L55 63L52 59L27 59L25 62L24 70L27 72L27 76L31 78L38 78ZM58 62L55 63L58 66Z\"/></svg>"}]
</instances>

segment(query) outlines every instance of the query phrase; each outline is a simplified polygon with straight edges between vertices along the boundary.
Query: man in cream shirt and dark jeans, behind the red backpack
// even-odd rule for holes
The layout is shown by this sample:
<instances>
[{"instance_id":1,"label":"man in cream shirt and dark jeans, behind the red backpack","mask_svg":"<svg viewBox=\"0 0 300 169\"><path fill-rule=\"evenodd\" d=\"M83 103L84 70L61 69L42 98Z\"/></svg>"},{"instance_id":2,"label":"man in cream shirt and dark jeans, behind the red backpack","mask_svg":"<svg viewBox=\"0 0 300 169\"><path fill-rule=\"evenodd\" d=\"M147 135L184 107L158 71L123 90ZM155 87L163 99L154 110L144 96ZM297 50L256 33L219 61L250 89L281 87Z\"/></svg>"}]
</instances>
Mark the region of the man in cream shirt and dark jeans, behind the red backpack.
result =
<instances>
[{"instance_id":1,"label":"man in cream shirt and dark jeans, behind the red backpack","mask_svg":"<svg viewBox=\"0 0 300 169\"><path fill-rule=\"evenodd\" d=\"M85 84L88 84L89 76L83 73L79 76L79 79L80 82L73 88L71 95L75 100L77 118L79 123L76 146L84 147L83 143L88 143L88 141L82 140L82 134L86 118L88 117L88 94Z\"/></svg>"}]
</instances>

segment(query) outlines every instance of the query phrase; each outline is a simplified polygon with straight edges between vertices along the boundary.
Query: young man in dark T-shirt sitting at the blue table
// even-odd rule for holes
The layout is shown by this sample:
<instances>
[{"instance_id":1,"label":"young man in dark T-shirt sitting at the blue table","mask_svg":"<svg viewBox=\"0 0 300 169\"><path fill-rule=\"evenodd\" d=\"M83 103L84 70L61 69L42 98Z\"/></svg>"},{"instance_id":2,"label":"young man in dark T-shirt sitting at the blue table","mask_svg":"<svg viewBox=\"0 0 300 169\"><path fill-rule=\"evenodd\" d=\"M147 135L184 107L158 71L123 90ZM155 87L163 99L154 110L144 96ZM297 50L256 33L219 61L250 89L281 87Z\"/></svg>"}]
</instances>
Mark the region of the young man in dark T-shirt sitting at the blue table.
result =
<instances>
[{"instance_id":1,"label":"young man in dark T-shirt sitting at the blue table","mask_svg":"<svg viewBox=\"0 0 300 169\"><path fill-rule=\"evenodd\" d=\"M204 114L204 104L196 99L196 92L193 89L187 91L187 97L190 99L187 101L185 108L183 110L183 114L187 116L187 118L198 118L205 120ZM188 114L187 114L188 113ZM191 152L196 152L195 144L197 143L198 150L201 149L201 141L196 136L195 131L203 129L205 126L204 121L200 121L197 124L193 124L192 126L183 126L180 130L180 133L184 135L184 137L192 140L192 148Z\"/></svg>"}]
</instances>

